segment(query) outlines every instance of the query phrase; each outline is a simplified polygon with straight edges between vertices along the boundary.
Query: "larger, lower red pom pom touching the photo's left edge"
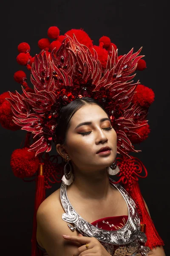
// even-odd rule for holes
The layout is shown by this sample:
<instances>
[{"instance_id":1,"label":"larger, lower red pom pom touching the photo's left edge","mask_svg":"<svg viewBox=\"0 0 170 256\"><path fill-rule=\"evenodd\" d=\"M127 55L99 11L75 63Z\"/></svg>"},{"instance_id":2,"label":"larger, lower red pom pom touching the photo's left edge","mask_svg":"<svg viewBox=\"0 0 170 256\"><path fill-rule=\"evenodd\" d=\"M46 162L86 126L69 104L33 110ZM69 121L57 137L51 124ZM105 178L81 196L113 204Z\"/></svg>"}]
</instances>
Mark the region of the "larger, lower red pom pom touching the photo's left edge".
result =
<instances>
[{"instance_id":1,"label":"larger, lower red pom pom touching the photo's left edge","mask_svg":"<svg viewBox=\"0 0 170 256\"><path fill-rule=\"evenodd\" d=\"M6 98L11 98L11 96L7 95ZM19 125L16 125L12 121L12 119L14 119L13 115L14 114L11 110L11 104L6 99L4 99L3 103L0 105L0 124L2 125L3 128L11 131L20 130L21 127Z\"/></svg>"}]
</instances>

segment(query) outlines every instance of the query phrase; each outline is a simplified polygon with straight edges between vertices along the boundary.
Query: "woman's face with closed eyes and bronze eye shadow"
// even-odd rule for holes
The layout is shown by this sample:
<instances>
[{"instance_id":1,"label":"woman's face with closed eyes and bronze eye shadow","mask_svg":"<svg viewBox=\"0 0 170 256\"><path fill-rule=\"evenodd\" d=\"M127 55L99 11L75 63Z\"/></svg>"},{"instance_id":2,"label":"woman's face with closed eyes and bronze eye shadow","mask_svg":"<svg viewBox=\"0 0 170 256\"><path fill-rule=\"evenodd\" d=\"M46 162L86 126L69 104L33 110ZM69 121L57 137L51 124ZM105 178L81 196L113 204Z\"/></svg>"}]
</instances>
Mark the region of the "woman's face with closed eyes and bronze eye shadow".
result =
<instances>
[{"instance_id":1,"label":"woman's face with closed eyes and bronze eye shadow","mask_svg":"<svg viewBox=\"0 0 170 256\"><path fill-rule=\"evenodd\" d=\"M100 148L108 154L97 154ZM64 148L79 170L103 169L111 165L117 153L117 135L105 111L96 104L79 108L70 120Z\"/></svg>"}]
</instances>

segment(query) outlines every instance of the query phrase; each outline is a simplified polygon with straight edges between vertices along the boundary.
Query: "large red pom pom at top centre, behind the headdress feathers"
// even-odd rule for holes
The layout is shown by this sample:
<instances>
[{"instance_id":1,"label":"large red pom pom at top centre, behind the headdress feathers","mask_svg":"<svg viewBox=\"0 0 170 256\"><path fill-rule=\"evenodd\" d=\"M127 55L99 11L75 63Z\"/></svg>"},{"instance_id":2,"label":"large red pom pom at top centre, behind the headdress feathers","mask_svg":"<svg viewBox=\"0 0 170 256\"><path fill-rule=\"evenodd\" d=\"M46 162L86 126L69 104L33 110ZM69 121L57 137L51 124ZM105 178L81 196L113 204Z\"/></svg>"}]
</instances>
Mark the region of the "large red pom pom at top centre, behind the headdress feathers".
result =
<instances>
[{"instance_id":1,"label":"large red pom pom at top centre, behind the headdress feathers","mask_svg":"<svg viewBox=\"0 0 170 256\"><path fill-rule=\"evenodd\" d=\"M85 31L81 29L71 29L65 33L65 35L68 35L71 38L73 38L73 34L76 36L77 41L79 41L80 44L84 44L89 48L93 46L93 41Z\"/></svg>"}]
</instances>

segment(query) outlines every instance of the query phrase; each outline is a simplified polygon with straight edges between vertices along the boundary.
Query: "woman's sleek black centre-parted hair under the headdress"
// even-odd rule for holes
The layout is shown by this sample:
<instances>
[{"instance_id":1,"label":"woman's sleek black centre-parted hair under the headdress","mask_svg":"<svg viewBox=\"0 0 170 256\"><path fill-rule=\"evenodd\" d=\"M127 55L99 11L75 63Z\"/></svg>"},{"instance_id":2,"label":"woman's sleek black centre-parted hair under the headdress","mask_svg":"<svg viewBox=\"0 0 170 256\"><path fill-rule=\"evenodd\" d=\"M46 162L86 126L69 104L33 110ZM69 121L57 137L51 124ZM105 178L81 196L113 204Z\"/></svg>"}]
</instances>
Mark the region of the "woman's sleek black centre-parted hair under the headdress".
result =
<instances>
[{"instance_id":1,"label":"woman's sleek black centre-parted hair under the headdress","mask_svg":"<svg viewBox=\"0 0 170 256\"><path fill-rule=\"evenodd\" d=\"M86 104L99 105L105 111L100 102L90 97L77 98L74 101L70 102L68 105L63 106L59 112L58 125L55 131L57 138L56 144L65 144L65 137L70 125L71 117L74 115L74 113L76 113L77 110L79 110L79 108ZM105 111L105 113L107 112Z\"/></svg>"}]
</instances>

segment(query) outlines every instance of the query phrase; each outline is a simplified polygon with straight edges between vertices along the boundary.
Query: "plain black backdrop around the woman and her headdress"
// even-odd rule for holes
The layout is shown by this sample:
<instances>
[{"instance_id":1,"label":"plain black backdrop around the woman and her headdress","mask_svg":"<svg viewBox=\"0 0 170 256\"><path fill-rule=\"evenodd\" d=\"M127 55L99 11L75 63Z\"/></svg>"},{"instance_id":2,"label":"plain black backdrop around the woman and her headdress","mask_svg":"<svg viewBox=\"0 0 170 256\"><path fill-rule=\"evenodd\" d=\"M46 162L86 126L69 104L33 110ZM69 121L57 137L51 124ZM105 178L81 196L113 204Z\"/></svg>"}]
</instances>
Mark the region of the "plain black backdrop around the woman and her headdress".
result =
<instances>
[{"instance_id":1,"label":"plain black backdrop around the woman and her headdress","mask_svg":"<svg viewBox=\"0 0 170 256\"><path fill-rule=\"evenodd\" d=\"M141 84L153 89L155 101L150 107L148 120L151 133L147 140L136 146L142 152L135 154L147 168L148 177L139 180L142 195L151 217L164 240L165 253L170 255L169 228L169 42L167 40L167 1L14 1L3 3L1 9L1 87L0 93L17 90L13 75L26 67L17 64L17 46L27 42L31 55L40 49L37 42L47 38L50 26L58 26L60 35L68 30L84 29L98 45L103 35L119 48L119 55L132 47L141 46L147 69L136 76ZM34 209L35 183L25 183L15 177L10 167L12 151L20 148L25 131L0 128L0 253L2 255L31 255L31 233ZM52 152L55 149L53 148ZM47 196L59 185L48 190Z\"/></svg>"}]
</instances>

